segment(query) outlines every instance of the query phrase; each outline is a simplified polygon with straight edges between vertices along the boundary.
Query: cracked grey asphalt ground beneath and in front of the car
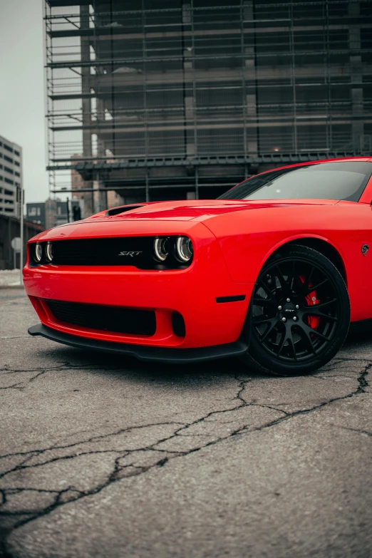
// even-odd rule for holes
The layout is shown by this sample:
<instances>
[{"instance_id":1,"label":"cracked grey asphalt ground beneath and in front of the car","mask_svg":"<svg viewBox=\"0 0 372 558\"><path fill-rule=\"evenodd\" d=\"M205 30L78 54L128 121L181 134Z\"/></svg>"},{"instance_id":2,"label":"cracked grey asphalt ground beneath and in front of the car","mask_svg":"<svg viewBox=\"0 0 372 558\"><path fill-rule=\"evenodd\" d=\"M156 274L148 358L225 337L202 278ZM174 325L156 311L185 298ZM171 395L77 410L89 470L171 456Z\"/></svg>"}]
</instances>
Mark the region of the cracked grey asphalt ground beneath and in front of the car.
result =
<instances>
[{"instance_id":1,"label":"cracked grey asphalt ground beneath and in front of the car","mask_svg":"<svg viewBox=\"0 0 372 558\"><path fill-rule=\"evenodd\" d=\"M313 376L31 338L0 289L0 556L372 556L372 334Z\"/></svg>"}]
</instances>

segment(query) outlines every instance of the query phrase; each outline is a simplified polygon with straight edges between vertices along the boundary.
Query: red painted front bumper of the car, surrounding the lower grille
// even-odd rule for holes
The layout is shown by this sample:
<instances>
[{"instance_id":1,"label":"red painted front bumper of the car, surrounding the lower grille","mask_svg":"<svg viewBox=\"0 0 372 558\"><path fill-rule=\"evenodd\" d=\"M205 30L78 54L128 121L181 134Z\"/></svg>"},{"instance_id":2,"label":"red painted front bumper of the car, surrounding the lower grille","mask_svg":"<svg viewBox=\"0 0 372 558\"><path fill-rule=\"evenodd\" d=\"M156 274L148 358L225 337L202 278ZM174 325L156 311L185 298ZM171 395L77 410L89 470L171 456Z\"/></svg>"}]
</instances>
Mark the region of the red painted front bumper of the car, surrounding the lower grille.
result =
<instances>
[{"instance_id":1,"label":"red painted front bumper of the car, surrounding the lower grille","mask_svg":"<svg viewBox=\"0 0 372 558\"><path fill-rule=\"evenodd\" d=\"M130 266L29 267L26 264L24 285L43 326L74 339L127 346L180 350L236 342L244 326L254 284L232 280L215 236L203 224L182 223L182 228L178 224L172 227L175 234L184 233L188 227L187 234L195 246L194 260L187 269L152 271ZM128 236L133 234L133 224L128 224L129 228L125 233ZM82 224L81 237L84 229ZM155 234L170 234L170 224L157 224ZM73 326L58 321L48 311L48 300L153 310L156 331L153 336L135 336L99 331L94 329L94 324L89 329ZM175 335L172 328L175 311L185 321L183 337Z\"/></svg>"}]
</instances>

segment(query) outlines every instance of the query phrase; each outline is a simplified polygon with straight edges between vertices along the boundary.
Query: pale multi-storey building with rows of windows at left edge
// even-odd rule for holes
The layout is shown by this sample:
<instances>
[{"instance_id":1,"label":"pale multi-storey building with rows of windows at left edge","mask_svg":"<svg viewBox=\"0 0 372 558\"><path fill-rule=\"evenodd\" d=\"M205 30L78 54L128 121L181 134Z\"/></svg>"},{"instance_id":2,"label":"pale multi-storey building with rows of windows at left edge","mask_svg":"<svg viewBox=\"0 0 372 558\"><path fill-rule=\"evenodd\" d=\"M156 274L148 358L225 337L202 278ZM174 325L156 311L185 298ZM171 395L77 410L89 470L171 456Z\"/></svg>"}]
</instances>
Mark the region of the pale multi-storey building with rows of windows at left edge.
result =
<instances>
[{"instance_id":1,"label":"pale multi-storey building with rows of windows at left edge","mask_svg":"<svg viewBox=\"0 0 372 558\"><path fill-rule=\"evenodd\" d=\"M22 148L0 135L0 215L21 216Z\"/></svg>"}]
</instances>

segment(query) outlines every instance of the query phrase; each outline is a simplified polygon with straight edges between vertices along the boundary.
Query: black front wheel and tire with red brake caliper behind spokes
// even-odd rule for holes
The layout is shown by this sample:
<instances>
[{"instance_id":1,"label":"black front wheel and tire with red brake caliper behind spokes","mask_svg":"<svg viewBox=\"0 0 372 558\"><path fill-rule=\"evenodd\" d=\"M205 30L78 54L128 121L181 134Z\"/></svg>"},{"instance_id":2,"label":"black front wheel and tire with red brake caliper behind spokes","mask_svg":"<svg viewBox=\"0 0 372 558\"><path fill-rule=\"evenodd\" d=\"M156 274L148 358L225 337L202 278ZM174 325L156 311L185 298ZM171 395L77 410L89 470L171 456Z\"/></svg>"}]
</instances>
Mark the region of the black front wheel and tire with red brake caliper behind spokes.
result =
<instances>
[{"instance_id":1,"label":"black front wheel and tire with red brake caliper behind spokes","mask_svg":"<svg viewBox=\"0 0 372 558\"><path fill-rule=\"evenodd\" d=\"M336 355L348 334L345 281L323 254L286 247L259 274L249 322L246 363L279 376L314 372Z\"/></svg>"}]
</instances>

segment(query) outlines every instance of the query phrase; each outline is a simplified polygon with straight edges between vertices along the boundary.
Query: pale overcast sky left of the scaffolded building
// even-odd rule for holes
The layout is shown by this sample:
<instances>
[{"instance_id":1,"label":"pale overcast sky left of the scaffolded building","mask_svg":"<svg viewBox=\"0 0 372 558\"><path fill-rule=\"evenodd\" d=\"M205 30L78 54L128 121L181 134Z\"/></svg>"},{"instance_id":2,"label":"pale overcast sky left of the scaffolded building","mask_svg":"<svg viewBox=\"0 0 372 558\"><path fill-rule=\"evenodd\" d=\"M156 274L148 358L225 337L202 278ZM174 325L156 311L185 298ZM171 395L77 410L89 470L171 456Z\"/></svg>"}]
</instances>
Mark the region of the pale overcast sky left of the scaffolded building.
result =
<instances>
[{"instance_id":1,"label":"pale overcast sky left of the scaffolded building","mask_svg":"<svg viewBox=\"0 0 372 558\"><path fill-rule=\"evenodd\" d=\"M21 145L26 202L48 197L43 1L0 0L0 135Z\"/></svg>"}]
</instances>

